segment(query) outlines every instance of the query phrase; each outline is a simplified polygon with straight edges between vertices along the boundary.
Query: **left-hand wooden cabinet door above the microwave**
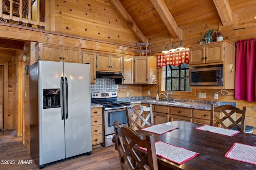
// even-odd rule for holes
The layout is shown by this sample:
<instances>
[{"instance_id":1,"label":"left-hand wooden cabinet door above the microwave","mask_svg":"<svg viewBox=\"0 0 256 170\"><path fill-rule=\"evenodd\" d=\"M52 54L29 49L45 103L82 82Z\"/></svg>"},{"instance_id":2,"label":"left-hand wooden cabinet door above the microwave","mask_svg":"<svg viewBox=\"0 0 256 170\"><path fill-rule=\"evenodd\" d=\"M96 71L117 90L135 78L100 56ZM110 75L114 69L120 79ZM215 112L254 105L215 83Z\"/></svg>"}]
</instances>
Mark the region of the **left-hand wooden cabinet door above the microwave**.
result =
<instances>
[{"instance_id":1,"label":"left-hand wooden cabinet door above the microwave","mask_svg":"<svg viewBox=\"0 0 256 170\"><path fill-rule=\"evenodd\" d=\"M189 52L189 65L204 64L205 63L205 47L193 47Z\"/></svg>"}]
</instances>

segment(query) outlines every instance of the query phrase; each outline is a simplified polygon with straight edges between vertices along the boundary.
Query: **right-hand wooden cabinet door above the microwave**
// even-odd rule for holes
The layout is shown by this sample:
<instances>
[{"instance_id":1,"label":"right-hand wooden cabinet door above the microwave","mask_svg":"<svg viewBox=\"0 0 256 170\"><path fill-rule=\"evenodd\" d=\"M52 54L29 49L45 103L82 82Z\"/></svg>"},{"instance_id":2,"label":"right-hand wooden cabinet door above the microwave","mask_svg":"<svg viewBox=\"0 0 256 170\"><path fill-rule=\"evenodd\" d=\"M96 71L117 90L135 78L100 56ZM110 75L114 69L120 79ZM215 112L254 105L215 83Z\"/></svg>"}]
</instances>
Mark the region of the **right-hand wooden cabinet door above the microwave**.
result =
<instances>
[{"instance_id":1,"label":"right-hand wooden cabinet door above the microwave","mask_svg":"<svg viewBox=\"0 0 256 170\"><path fill-rule=\"evenodd\" d=\"M218 63L223 61L223 43L209 44L205 49L205 63Z\"/></svg>"}]
</instances>

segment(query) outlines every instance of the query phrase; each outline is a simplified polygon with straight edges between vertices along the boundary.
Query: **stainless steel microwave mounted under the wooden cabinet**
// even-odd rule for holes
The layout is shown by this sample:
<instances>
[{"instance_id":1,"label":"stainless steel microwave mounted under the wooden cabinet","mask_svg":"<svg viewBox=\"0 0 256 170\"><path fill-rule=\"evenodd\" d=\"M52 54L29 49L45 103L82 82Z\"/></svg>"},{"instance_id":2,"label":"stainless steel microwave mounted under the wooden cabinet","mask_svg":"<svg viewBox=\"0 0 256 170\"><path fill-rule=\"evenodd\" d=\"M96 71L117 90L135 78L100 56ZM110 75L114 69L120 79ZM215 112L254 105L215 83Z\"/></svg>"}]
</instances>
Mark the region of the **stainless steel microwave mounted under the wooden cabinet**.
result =
<instances>
[{"instance_id":1,"label":"stainless steel microwave mounted under the wooden cabinet","mask_svg":"<svg viewBox=\"0 0 256 170\"><path fill-rule=\"evenodd\" d=\"M223 66L190 69L190 86L223 86Z\"/></svg>"}]
</instances>

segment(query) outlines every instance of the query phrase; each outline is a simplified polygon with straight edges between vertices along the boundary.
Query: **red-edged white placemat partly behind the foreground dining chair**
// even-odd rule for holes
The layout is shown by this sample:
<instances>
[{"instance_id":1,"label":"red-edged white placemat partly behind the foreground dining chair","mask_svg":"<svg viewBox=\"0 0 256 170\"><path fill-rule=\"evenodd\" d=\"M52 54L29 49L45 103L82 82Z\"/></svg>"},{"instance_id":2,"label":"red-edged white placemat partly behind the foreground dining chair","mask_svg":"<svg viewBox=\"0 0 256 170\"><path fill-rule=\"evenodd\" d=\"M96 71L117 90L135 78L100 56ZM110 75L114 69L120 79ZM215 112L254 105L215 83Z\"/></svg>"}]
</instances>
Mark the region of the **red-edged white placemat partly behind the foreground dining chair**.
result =
<instances>
[{"instance_id":1,"label":"red-edged white placemat partly behind the foreground dining chair","mask_svg":"<svg viewBox=\"0 0 256 170\"><path fill-rule=\"evenodd\" d=\"M192 152L190 150L176 147L162 141L155 143L156 145L156 155L161 156L164 159L170 160L177 164L182 164L192 158L194 158L198 153ZM140 149L146 150L145 148L140 147Z\"/></svg>"}]
</instances>

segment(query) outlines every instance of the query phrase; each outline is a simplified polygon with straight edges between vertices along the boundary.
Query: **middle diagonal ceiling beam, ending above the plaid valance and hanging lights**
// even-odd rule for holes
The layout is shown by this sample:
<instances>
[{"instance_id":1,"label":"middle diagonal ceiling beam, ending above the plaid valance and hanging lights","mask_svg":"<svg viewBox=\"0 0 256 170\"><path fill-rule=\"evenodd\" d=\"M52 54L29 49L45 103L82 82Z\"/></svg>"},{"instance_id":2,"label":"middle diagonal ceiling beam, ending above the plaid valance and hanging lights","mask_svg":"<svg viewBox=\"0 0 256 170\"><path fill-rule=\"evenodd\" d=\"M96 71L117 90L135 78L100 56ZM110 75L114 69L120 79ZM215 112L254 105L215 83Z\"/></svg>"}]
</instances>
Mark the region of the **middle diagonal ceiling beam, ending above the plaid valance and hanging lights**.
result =
<instances>
[{"instance_id":1,"label":"middle diagonal ceiling beam, ending above the plaid valance and hanging lights","mask_svg":"<svg viewBox=\"0 0 256 170\"><path fill-rule=\"evenodd\" d=\"M170 13L169 8L166 6L164 0L150 0L154 8L158 12L159 16L162 18L164 24L166 25L171 36L175 38L180 38L182 40L182 29L178 26L174 17Z\"/></svg>"}]
</instances>

